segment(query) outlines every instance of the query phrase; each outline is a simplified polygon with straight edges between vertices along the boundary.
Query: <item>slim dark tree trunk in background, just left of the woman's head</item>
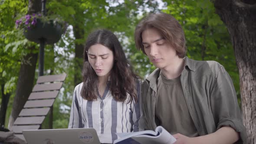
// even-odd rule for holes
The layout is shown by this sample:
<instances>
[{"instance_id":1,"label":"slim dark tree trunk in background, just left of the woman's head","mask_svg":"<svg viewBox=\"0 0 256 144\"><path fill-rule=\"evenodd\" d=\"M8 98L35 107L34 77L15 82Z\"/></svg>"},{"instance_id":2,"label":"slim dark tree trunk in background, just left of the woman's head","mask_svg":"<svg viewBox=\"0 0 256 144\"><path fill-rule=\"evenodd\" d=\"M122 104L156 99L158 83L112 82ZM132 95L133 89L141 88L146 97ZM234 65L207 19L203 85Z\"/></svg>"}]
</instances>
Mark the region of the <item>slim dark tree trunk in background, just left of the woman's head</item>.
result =
<instances>
[{"instance_id":1,"label":"slim dark tree trunk in background, just left of the woman's head","mask_svg":"<svg viewBox=\"0 0 256 144\"><path fill-rule=\"evenodd\" d=\"M75 39L83 39L84 31L79 28L79 26L73 27ZM78 42L75 42L75 77L74 84L78 85L82 82L82 67L83 67L83 51L84 45Z\"/></svg>"}]
</instances>

